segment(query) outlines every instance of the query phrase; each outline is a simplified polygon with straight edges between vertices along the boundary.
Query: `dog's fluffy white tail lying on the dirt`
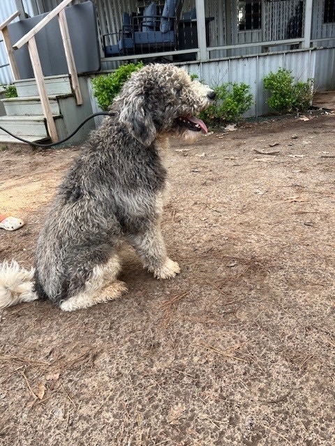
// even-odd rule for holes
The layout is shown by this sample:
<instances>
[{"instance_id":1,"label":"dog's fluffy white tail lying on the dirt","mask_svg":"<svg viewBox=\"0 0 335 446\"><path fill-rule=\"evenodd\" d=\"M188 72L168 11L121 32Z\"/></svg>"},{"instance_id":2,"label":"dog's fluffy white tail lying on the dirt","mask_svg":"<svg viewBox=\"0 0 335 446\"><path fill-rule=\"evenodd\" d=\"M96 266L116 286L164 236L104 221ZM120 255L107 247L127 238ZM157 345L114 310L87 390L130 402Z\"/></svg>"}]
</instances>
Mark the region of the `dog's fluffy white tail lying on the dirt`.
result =
<instances>
[{"instance_id":1,"label":"dog's fluffy white tail lying on the dirt","mask_svg":"<svg viewBox=\"0 0 335 446\"><path fill-rule=\"evenodd\" d=\"M34 268L21 268L14 260L0 263L0 309L38 299L32 282L34 272Z\"/></svg>"}]
</instances>

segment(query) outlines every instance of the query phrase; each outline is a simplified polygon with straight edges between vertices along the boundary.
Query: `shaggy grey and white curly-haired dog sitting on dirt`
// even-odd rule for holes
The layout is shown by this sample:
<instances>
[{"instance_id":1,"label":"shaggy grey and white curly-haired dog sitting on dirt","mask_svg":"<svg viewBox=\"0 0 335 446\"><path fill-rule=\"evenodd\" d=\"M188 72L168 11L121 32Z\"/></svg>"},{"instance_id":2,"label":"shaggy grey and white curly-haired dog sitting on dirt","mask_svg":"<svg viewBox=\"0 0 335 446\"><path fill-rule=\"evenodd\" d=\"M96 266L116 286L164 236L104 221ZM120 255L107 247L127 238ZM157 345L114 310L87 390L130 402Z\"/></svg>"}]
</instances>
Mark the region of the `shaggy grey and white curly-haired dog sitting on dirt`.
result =
<instances>
[{"instance_id":1,"label":"shaggy grey and white curly-haired dog sitting on dirt","mask_svg":"<svg viewBox=\"0 0 335 446\"><path fill-rule=\"evenodd\" d=\"M179 273L161 235L167 185L163 154L169 134L193 139L195 115L215 93L176 66L151 64L133 73L114 100L114 116L90 134L59 187L36 248L35 268L0 267L0 308L48 298L73 311L118 298L118 250L130 243L157 279Z\"/></svg>"}]
</instances>

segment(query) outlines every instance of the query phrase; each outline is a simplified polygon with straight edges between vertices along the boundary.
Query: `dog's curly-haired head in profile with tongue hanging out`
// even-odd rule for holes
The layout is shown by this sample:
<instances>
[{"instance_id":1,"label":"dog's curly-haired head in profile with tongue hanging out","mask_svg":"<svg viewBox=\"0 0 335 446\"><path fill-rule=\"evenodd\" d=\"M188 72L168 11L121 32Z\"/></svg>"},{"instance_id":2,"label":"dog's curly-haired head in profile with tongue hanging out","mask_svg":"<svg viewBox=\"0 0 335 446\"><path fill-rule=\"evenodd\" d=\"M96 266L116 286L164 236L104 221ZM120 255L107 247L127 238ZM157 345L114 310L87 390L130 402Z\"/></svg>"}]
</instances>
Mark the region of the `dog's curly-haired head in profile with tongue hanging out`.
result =
<instances>
[{"instance_id":1,"label":"dog's curly-haired head in profile with tongue hanging out","mask_svg":"<svg viewBox=\"0 0 335 446\"><path fill-rule=\"evenodd\" d=\"M207 132L196 115L214 98L209 86L192 81L184 69L156 63L133 73L114 105L119 108L119 121L149 146L165 132L179 132L188 139Z\"/></svg>"}]
</instances>

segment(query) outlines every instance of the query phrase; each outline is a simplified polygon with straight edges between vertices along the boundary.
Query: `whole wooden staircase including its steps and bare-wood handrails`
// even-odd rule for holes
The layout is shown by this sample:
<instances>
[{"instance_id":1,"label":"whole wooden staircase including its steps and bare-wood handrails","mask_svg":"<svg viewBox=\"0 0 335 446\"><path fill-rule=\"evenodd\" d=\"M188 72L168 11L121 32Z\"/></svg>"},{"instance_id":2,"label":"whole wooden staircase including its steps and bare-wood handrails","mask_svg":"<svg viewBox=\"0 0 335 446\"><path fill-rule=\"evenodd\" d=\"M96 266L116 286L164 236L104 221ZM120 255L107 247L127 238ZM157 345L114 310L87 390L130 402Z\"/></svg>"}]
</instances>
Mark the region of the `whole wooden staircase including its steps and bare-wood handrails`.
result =
<instances>
[{"instance_id":1,"label":"whole wooden staircase including its steps and bare-wood handrails","mask_svg":"<svg viewBox=\"0 0 335 446\"><path fill-rule=\"evenodd\" d=\"M6 128L27 141L50 140L57 144L68 137L85 118L92 114L87 81L77 74L66 20L65 8L72 1L61 1L14 45L10 41L8 25L20 15L19 10L0 24L3 43L6 46L18 95L17 98L2 100L6 116L0 116L0 127ZM58 17L69 75L45 77L35 36L54 17ZM27 45L34 79L20 79L20 72L17 69L14 51L24 45ZM82 141L92 128L94 128L94 121L90 120L66 142L66 145ZM20 140L0 129L0 143L17 141Z\"/></svg>"}]
</instances>

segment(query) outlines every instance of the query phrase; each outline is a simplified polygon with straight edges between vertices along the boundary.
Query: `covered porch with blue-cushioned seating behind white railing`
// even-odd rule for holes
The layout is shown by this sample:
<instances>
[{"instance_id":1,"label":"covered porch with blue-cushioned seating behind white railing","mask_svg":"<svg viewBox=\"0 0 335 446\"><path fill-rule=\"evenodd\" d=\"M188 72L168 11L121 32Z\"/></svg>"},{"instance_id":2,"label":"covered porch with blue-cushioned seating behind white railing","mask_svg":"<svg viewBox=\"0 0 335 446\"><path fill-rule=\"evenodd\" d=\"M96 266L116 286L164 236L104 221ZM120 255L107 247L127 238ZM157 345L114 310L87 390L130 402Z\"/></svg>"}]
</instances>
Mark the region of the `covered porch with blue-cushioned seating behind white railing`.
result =
<instances>
[{"instance_id":1,"label":"covered porch with blue-cushioned seating behind white railing","mask_svg":"<svg viewBox=\"0 0 335 446\"><path fill-rule=\"evenodd\" d=\"M333 47L329 0L94 0L104 70Z\"/></svg>"}]
</instances>

